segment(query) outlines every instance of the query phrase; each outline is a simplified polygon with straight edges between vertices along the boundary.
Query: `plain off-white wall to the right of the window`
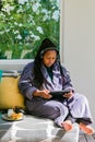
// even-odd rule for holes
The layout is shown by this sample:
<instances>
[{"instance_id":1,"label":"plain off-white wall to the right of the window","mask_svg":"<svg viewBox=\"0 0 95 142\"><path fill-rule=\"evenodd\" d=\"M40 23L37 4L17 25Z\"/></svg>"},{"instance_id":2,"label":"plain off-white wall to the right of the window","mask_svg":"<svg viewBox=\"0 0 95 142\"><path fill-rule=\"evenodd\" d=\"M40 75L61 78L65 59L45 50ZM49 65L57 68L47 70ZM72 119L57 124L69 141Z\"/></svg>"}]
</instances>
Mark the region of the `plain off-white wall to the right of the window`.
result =
<instances>
[{"instance_id":1,"label":"plain off-white wall to the right of the window","mask_svg":"<svg viewBox=\"0 0 95 142\"><path fill-rule=\"evenodd\" d=\"M76 91L87 96L94 117L95 0L64 0L63 4L63 62Z\"/></svg>"}]
</instances>

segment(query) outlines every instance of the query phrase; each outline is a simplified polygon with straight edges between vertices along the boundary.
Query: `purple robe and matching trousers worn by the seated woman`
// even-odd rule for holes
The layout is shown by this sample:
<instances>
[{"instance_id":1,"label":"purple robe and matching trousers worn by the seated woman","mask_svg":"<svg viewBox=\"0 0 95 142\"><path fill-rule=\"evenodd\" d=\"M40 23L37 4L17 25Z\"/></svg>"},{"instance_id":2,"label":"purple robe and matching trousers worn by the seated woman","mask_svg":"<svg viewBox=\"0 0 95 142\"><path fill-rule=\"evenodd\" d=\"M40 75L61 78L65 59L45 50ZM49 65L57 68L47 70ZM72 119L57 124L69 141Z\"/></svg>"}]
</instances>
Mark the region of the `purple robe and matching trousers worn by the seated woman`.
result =
<instances>
[{"instance_id":1,"label":"purple robe and matching trousers worn by the seated woman","mask_svg":"<svg viewBox=\"0 0 95 142\"><path fill-rule=\"evenodd\" d=\"M34 62L26 64L19 82L19 88L25 96L26 108L32 115L45 117L55 120L55 122L61 127L61 122L70 115L75 121L83 118L85 123L92 122L92 116L88 108L87 99L84 95L75 93L70 74L64 67L62 67L62 73L60 73L59 63L56 62L52 69L52 81L47 72L47 69L41 64L41 72L44 74L43 88L49 91L58 91L64 88L72 88L73 96L69 99L45 99L41 97L34 97L33 93L38 90L33 85L33 68ZM68 103L69 102L69 103Z\"/></svg>"}]
</instances>

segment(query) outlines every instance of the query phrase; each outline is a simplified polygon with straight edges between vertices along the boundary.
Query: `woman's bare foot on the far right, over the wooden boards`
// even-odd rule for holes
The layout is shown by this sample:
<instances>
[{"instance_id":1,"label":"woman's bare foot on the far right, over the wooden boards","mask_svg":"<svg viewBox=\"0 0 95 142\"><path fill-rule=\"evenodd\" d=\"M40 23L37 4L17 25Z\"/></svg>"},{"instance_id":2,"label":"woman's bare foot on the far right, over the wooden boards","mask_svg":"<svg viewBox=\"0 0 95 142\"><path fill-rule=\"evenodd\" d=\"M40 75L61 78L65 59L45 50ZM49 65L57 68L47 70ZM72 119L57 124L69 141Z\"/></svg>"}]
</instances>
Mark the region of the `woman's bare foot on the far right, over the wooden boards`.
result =
<instances>
[{"instance_id":1,"label":"woman's bare foot on the far right, over the wooden boards","mask_svg":"<svg viewBox=\"0 0 95 142\"><path fill-rule=\"evenodd\" d=\"M91 135L95 132L95 130L91 126L86 126L84 123L80 123L80 129L84 131L86 134Z\"/></svg>"}]
</instances>

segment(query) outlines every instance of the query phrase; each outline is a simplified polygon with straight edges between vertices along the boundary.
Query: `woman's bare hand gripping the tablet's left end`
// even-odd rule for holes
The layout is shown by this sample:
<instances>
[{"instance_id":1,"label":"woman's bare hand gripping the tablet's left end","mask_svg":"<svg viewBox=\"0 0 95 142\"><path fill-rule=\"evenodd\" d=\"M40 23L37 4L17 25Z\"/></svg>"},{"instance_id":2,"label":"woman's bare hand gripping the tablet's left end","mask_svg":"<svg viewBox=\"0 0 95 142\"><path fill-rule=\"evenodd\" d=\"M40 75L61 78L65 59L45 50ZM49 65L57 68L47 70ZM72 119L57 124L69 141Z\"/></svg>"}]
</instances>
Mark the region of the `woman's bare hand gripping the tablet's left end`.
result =
<instances>
[{"instance_id":1,"label":"woman's bare hand gripping the tablet's left end","mask_svg":"<svg viewBox=\"0 0 95 142\"><path fill-rule=\"evenodd\" d=\"M49 91L48 90L43 90L43 91L39 91L39 90L36 90L33 94L33 96L39 96L39 97L43 97L43 98L46 98L46 99L50 99L52 96L49 94Z\"/></svg>"}]
</instances>

